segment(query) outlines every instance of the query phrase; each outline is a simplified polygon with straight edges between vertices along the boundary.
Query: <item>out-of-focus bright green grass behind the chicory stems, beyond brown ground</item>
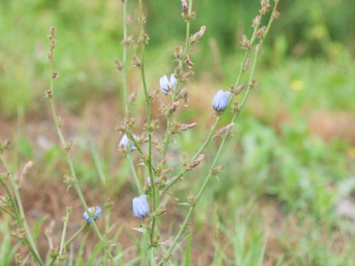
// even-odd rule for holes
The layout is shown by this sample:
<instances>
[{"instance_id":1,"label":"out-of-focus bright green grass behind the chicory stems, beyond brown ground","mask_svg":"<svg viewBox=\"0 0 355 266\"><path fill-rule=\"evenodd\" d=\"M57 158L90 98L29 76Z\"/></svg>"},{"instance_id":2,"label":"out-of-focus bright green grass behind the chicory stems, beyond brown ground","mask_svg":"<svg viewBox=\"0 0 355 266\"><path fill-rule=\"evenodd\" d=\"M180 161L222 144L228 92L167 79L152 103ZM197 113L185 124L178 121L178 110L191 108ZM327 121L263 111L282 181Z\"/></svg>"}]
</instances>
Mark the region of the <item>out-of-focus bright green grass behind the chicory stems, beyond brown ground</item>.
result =
<instances>
[{"instance_id":1,"label":"out-of-focus bright green grass behind the chicory stems, beyond brown ground","mask_svg":"<svg viewBox=\"0 0 355 266\"><path fill-rule=\"evenodd\" d=\"M204 125L213 112L197 117L199 106L194 103L203 101L209 106L210 99L202 92L227 88L234 81L241 56L238 38L251 31L249 24L257 6L258 1L196 1L198 16L193 27L197 30L206 24L207 35L192 57L197 74L192 83L189 110L180 111L178 118L179 121L198 118L200 129L179 135L174 149L193 153L198 145L194 140L204 138ZM230 247L234 250L232 257L240 265L256 264L260 258L255 253L261 254L268 237L261 232L269 230L278 234L275 238L281 245L282 255L275 254L275 265L276 262L354 265L354 255L351 256L354 223L339 218L334 211L339 199L355 189L354 152L351 153L354 148L349 140L326 141L312 134L307 124L309 114L317 110L354 116L355 11L351 6L351 0L282 2L282 16L273 27L258 67L258 83L251 104L241 115L235 137L221 160L226 167L197 207L197 228L213 224L219 234L230 237L227 244L216 243L220 248L216 265L222 265L224 257L229 256L225 250ZM147 26L151 35L147 48L148 83L150 89L156 89L158 78L173 70L173 47L182 43L184 23L180 17L180 1L148 1L148 9ZM80 113L92 101L116 97L121 88L113 60L121 55L120 12L116 0L1 1L0 118L16 121L46 108L43 95L49 71L45 35L52 25L58 27L55 66L60 79L55 93L60 104L72 113ZM134 13L131 15L134 19ZM129 31L136 33L133 26ZM216 52L211 47L214 40L220 65L212 56ZM134 80L135 71L131 67L130 86L138 91L140 85ZM139 113L141 108L136 104L134 112ZM280 113L292 117L292 121L273 126ZM229 115L225 114L224 122ZM337 127L337 121L332 123ZM86 135L87 131L83 131L80 134ZM14 165L35 156L33 142L24 133L16 135L15 145ZM209 151L214 151L214 145ZM104 158L107 156L102 148L100 153ZM99 179L87 157L89 150L79 148L75 163L82 181L92 187ZM209 159L207 154L207 162ZM58 147L46 151L38 160L46 165L40 177L61 178L55 171L63 165ZM119 177L119 182L112 189L119 193L129 175L128 166L123 163L113 175ZM192 187L180 185L178 195L195 191L199 177L203 176L203 172L190 174L187 178L192 179ZM249 212L255 211L251 203L257 202L263 208L264 201L280 206L282 213L277 218L285 223L288 219L297 221L291 236L288 228L265 229L263 217L249 216ZM216 206L213 221L211 206ZM244 209L242 215L240 209ZM253 224L250 228L249 223ZM6 231L6 223L1 230ZM350 239L341 243L342 252L332 247L332 238L337 233L350 235ZM253 237L249 238L250 235ZM246 243L246 247L241 243ZM9 244L4 244L0 257L9 250ZM238 257L241 253L244 256ZM273 255L266 251L266 256Z\"/></svg>"}]
</instances>

